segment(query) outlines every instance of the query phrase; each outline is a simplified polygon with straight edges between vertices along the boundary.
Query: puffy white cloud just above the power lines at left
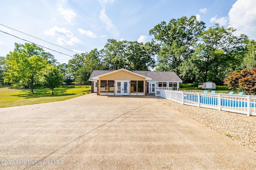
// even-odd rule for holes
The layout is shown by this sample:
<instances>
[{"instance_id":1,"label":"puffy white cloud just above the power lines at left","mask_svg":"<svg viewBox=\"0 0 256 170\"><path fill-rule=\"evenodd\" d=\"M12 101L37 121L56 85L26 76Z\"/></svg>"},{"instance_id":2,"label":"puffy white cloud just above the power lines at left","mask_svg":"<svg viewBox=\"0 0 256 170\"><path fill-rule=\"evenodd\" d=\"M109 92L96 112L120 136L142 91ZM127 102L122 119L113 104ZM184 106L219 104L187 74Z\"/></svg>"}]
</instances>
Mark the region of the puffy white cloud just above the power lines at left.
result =
<instances>
[{"instance_id":1,"label":"puffy white cloud just above the power lines at left","mask_svg":"<svg viewBox=\"0 0 256 170\"><path fill-rule=\"evenodd\" d=\"M74 45L74 43L82 43L78 38L74 37L73 33L66 28L59 28L56 25L44 31L46 35L58 36L58 44Z\"/></svg>"}]
</instances>

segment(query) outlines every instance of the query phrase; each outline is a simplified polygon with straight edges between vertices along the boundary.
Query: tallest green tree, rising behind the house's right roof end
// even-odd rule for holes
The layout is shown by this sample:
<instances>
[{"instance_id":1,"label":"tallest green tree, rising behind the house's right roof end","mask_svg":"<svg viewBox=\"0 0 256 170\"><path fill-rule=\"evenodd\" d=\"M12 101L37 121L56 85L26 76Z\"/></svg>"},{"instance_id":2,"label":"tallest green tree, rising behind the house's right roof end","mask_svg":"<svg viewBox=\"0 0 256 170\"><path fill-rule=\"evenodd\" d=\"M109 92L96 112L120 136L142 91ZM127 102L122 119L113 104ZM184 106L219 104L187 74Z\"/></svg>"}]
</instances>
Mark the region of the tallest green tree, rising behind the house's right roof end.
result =
<instances>
[{"instance_id":1,"label":"tallest green tree, rising behind the house's right roof end","mask_svg":"<svg viewBox=\"0 0 256 170\"><path fill-rule=\"evenodd\" d=\"M161 49L158 53L158 71L175 71L178 76L186 68L182 67L183 62L188 61L191 54L194 53L198 35L204 31L205 23L197 21L196 16L190 18L182 17L172 19L167 24L162 21L150 30L149 34L154 35L154 40L160 42ZM187 73L190 70L186 71ZM186 81L186 75L181 76Z\"/></svg>"}]
</instances>

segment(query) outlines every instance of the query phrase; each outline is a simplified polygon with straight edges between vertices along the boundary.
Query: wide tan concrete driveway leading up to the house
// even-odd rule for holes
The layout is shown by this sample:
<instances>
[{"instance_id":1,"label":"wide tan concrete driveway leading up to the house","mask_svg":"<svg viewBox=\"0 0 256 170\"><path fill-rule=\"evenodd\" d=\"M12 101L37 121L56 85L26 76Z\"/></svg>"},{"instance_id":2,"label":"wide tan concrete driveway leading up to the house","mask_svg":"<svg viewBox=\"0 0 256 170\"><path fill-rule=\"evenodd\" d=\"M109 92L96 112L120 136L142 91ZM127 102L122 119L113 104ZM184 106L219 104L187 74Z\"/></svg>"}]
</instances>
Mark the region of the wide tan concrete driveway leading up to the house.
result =
<instances>
[{"instance_id":1,"label":"wide tan concrete driveway leading up to the house","mask_svg":"<svg viewBox=\"0 0 256 170\"><path fill-rule=\"evenodd\" d=\"M154 96L1 108L0 131L0 169L256 169L255 152Z\"/></svg>"}]
</instances>

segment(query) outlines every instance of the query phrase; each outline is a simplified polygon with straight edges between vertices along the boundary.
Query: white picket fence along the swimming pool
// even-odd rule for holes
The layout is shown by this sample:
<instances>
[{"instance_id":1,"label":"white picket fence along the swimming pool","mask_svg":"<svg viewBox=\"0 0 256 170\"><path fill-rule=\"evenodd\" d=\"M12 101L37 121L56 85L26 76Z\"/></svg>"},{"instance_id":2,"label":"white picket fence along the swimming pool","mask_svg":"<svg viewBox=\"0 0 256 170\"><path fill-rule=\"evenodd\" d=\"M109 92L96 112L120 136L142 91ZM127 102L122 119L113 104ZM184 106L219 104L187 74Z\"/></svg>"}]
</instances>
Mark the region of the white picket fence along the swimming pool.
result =
<instances>
[{"instance_id":1,"label":"white picket fence along the swimming pool","mask_svg":"<svg viewBox=\"0 0 256 170\"><path fill-rule=\"evenodd\" d=\"M156 90L156 96L174 102L256 116L256 96Z\"/></svg>"}]
</instances>

